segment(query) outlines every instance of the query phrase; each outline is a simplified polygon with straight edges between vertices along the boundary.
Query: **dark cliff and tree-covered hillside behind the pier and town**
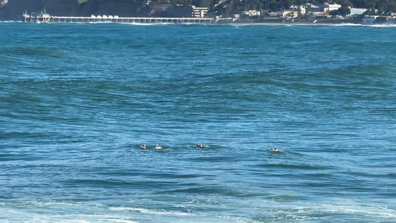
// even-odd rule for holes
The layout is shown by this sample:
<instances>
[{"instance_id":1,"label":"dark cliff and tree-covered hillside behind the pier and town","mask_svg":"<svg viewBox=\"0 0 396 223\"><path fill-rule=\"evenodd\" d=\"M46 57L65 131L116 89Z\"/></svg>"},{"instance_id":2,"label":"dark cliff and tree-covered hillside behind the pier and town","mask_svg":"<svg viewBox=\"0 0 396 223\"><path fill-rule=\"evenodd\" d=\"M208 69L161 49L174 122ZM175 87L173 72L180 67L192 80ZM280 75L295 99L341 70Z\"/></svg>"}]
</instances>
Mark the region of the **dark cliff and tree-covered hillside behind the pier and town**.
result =
<instances>
[{"instance_id":1,"label":"dark cliff and tree-covered hillside behind the pier and town","mask_svg":"<svg viewBox=\"0 0 396 223\"><path fill-rule=\"evenodd\" d=\"M80 2L80 3L79 3ZM209 7L217 14L238 13L243 10L279 10L294 4L323 4L326 0L0 0L0 20L17 20L25 10L40 12L46 8L51 15L119 15L155 16L161 15L169 4L192 4ZM396 12L396 0L339 0L343 6L375 8L379 14ZM333 2L329 2L333 3Z\"/></svg>"}]
</instances>

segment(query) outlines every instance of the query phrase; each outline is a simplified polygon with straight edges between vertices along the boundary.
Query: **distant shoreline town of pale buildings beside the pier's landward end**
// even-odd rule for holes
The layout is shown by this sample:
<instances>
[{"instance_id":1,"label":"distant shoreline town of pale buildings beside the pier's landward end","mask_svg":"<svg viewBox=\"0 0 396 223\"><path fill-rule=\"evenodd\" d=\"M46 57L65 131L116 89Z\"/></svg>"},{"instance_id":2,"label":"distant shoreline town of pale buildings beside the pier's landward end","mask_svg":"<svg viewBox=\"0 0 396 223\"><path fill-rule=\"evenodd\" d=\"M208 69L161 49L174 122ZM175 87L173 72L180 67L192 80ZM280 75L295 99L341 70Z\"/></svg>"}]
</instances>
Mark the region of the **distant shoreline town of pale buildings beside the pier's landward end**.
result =
<instances>
[{"instance_id":1,"label":"distant shoreline town of pale buildings beside the pier's landward end","mask_svg":"<svg viewBox=\"0 0 396 223\"><path fill-rule=\"evenodd\" d=\"M378 10L342 7L341 4L292 5L285 10L246 10L238 14L216 15L208 8L176 5L166 9L167 17L216 17L223 23L391 23L396 24L396 13L371 15Z\"/></svg>"}]
</instances>

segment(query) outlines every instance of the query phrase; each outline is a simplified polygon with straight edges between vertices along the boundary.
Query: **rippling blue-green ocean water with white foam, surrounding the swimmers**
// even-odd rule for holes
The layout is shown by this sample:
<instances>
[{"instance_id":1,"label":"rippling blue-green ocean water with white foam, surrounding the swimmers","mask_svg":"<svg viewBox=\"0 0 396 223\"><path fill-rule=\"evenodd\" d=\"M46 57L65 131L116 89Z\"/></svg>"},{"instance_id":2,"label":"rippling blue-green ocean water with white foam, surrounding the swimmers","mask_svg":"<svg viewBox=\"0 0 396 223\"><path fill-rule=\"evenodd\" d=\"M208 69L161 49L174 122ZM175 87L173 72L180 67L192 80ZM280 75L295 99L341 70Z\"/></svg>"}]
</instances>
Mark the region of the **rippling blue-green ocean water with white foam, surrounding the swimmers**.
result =
<instances>
[{"instance_id":1,"label":"rippling blue-green ocean water with white foam, surrounding the swimmers","mask_svg":"<svg viewBox=\"0 0 396 223\"><path fill-rule=\"evenodd\" d=\"M0 23L0 223L393 223L395 35Z\"/></svg>"}]
</instances>

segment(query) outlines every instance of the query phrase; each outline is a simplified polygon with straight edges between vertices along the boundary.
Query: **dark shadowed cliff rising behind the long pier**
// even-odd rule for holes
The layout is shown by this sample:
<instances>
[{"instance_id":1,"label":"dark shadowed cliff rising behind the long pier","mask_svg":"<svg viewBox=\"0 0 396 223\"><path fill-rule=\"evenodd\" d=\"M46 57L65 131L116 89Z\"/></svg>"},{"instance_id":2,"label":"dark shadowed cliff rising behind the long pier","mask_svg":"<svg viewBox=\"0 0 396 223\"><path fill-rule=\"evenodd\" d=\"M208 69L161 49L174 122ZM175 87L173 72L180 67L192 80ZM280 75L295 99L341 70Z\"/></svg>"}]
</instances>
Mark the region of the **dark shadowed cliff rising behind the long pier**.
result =
<instances>
[{"instance_id":1,"label":"dark shadowed cliff rising behind the long pier","mask_svg":"<svg viewBox=\"0 0 396 223\"><path fill-rule=\"evenodd\" d=\"M3 2L3 4L2 4ZM144 16L152 9L144 0L0 0L0 20L20 20L25 10L40 12L44 8L51 15L90 16L119 15Z\"/></svg>"}]
</instances>

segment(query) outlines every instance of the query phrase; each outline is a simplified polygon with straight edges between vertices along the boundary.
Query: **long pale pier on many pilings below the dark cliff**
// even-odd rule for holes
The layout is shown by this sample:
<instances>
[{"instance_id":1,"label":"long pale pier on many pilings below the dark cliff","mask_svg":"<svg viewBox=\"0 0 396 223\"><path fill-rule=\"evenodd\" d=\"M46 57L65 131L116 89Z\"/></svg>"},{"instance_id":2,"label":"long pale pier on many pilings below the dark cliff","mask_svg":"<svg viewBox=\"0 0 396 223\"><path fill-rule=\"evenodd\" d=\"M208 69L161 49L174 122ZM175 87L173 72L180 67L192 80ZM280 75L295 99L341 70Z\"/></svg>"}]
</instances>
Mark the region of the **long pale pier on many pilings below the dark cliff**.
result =
<instances>
[{"instance_id":1,"label":"long pale pier on many pilings below the dark cliff","mask_svg":"<svg viewBox=\"0 0 396 223\"><path fill-rule=\"evenodd\" d=\"M91 15L91 17L78 16L52 16L46 10L42 13L25 12L23 22L26 23L140 23L140 24L160 24L160 23L196 23L196 24L216 24L215 18L160 18L160 17L118 17L117 15Z\"/></svg>"}]
</instances>

